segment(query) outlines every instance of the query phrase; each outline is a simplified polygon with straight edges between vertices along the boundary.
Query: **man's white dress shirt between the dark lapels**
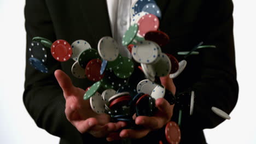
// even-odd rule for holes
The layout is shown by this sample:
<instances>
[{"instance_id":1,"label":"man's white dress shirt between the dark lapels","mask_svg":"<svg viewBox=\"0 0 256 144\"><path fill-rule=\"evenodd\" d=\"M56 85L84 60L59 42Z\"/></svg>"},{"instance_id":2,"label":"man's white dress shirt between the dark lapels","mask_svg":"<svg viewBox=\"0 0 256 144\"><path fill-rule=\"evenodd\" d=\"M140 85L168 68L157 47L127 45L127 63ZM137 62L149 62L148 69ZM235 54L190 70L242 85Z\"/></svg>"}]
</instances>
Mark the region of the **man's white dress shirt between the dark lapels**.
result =
<instances>
[{"instance_id":1,"label":"man's white dress shirt between the dark lapels","mask_svg":"<svg viewBox=\"0 0 256 144\"><path fill-rule=\"evenodd\" d=\"M121 41L126 30L130 27L130 8L135 0L106 0L108 15L113 38L119 44L119 52L122 56L131 57L130 52Z\"/></svg>"}]
</instances>

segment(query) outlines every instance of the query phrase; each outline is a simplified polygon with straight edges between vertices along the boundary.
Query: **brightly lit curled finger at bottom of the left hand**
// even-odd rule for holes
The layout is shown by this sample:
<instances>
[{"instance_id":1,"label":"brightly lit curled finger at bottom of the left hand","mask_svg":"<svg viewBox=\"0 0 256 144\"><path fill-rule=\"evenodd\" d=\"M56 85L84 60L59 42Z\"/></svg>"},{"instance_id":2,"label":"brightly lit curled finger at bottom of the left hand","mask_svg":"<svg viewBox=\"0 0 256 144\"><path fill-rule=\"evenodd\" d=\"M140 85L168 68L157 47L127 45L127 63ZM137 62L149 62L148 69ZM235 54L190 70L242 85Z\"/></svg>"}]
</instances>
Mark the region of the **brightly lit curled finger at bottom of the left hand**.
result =
<instances>
[{"instance_id":1,"label":"brightly lit curled finger at bottom of the left hand","mask_svg":"<svg viewBox=\"0 0 256 144\"><path fill-rule=\"evenodd\" d=\"M77 128L80 133L88 132L93 129L97 124L96 118L88 118L85 121L73 121L72 124Z\"/></svg>"}]
</instances>

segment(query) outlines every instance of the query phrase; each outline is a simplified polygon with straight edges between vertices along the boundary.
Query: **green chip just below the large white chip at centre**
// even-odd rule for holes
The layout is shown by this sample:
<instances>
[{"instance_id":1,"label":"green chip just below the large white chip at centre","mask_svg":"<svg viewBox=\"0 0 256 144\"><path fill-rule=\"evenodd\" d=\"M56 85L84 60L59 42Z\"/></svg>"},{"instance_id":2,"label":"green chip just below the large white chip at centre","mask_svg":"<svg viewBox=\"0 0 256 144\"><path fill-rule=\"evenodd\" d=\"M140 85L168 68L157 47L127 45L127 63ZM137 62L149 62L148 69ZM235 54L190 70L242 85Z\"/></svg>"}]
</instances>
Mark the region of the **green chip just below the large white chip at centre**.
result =
<instances>
[{"instance_id":1,"label":"green chip just below the large white chip at centre","mask_svg":"<svg viewBox=\"0 0 256 144\"><path fill-rule=\"evenodd\" d=\"M114 68L114 74L121 78L126 79L130 77L134 70L134 64L130 58L123 57L122 61L118 65L118 67Z\"/></svg>"}]
</instances>

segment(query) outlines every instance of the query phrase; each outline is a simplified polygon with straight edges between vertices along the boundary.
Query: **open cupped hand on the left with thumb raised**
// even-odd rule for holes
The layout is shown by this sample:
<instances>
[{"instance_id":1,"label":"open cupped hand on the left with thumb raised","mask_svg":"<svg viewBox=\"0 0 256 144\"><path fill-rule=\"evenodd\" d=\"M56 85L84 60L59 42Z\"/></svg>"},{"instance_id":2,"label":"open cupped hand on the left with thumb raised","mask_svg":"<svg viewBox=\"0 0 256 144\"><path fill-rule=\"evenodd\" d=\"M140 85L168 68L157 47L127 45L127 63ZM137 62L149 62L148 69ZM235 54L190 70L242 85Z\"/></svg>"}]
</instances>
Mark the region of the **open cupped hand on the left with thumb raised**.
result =
<instances>
[{"instance_id":1,"label":"open cupped hand on the left with thumb raised","mask_svg":"<svg viewBox=\"0 0 256 144\"><path fill-rule=\"evenodd\" d=\"M66 117L80 133L104 137L125 127L124 122L110 123L110 116L92 111L90 101L84 100L84 89L74 87L71 79L62 70L54 73L66 99Z\"/></svg>"}]
</instances>

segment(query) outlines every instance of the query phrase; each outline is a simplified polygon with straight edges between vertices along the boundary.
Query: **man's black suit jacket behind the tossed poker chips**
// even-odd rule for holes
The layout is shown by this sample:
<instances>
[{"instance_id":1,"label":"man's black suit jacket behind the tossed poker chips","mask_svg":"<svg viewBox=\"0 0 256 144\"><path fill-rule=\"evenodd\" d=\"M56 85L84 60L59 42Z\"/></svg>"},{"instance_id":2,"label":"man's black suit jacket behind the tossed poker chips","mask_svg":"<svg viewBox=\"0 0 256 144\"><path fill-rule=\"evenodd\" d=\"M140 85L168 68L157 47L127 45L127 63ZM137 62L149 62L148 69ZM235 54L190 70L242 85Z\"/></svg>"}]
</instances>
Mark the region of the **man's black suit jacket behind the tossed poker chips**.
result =
<instances>
[{"instance_id":1,"label":"man's black suit jacket behind the tossed poker chips","mask_svg":"<svg viewBox=\"0 0 256 144\"><path fill-rule=\"evenodd\" d=\"M203 129L214 128L224 121L211 111L212 106L227 113L234 109L238 95L233 40L233 5L231 0L158 0L162 11L161 31L170 44L162 51L177 56L203 41L216 49L201 49L200 55L187 58L187 68L174 79L178 92L194 89L196 99L193 116L183 113L182 143L205 143ZM65 116L65 99L54 70L62 69L75 86L86 88L92 83L72 76L73 60L57 62L48 51L48 74L35 70L28 62L28 46L33 37L55 41L77 39L88 41L97 49L97 42L112 35L106 1L95 0L27 0L25 6L27 55L24 104L38 127L61 137L61 143L104 143L89 134L80 134ZM182 57L177 56L179 61ZM178 112L174 109L173 119ZM155 131L154 131L155 132ZM153 143L154 132L142 141Z\"/></svg>"}]
</instances>

